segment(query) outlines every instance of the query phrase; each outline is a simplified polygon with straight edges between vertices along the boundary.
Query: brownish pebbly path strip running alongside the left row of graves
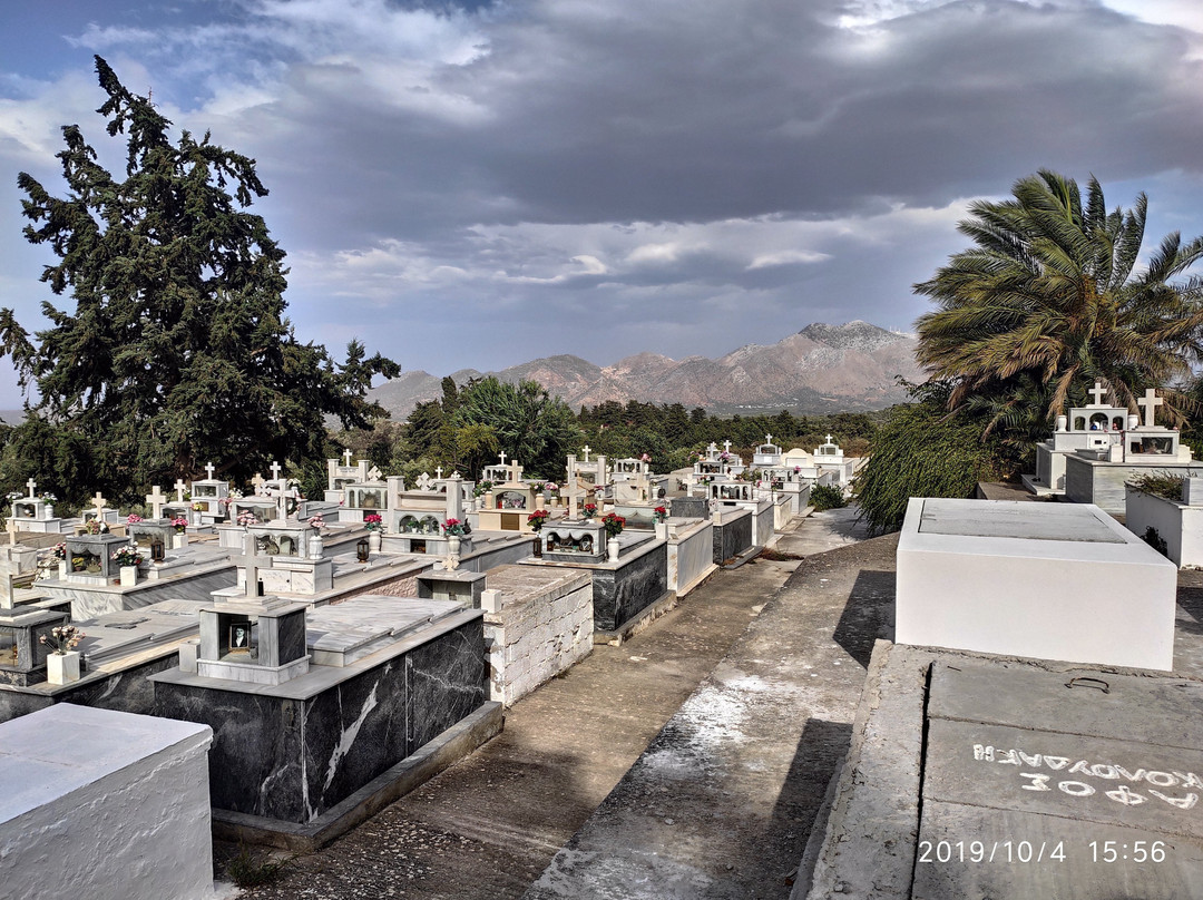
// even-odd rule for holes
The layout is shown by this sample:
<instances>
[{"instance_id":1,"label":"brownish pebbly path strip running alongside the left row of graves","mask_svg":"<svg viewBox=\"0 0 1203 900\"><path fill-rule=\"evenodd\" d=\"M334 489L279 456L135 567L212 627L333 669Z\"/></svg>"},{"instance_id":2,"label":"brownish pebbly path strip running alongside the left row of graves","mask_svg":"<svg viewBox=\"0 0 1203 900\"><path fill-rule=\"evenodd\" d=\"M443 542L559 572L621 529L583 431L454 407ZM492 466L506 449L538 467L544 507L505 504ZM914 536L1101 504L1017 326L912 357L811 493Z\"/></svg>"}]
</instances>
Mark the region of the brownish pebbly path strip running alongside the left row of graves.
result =
<instances>
[{"instance_id":1,"label":"brownish pebbly path strip running alongside the left row of graves","mask_svg":"<svg viewBox=\"0 0 1203 900\"><path fill-rule=\"evenodd\" d=\"M837 510L777 549L811 553L854 539ZM505 730L463 763L244 896L521 896L798 566L758 559L717 573L644 633L595 647L523 698ZM219 846L219 865L235 852Z\"/></svg>"}]
</instances>

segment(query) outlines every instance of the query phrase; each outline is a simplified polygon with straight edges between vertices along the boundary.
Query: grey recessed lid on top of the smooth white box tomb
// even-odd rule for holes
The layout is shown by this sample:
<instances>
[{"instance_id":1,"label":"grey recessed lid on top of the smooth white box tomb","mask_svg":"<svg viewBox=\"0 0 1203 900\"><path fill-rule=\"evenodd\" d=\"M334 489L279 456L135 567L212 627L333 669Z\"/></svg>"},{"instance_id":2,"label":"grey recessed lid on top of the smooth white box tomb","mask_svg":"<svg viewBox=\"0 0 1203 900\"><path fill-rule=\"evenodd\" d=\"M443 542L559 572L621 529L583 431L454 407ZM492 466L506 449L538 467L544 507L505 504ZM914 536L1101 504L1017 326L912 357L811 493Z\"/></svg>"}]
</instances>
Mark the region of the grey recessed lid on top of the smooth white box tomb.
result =
<instances>
[{"instance_id":1,"label":"grey recessed lid on top of the smooth white box tomb","mask_svg":"<svg viewBox=\"0 0 1203 900\"><path fill-rule=\"evenodd\" d=\"M928 498L920 534L1125 544L1085 505Z\"/></svg>"}]
</instances>

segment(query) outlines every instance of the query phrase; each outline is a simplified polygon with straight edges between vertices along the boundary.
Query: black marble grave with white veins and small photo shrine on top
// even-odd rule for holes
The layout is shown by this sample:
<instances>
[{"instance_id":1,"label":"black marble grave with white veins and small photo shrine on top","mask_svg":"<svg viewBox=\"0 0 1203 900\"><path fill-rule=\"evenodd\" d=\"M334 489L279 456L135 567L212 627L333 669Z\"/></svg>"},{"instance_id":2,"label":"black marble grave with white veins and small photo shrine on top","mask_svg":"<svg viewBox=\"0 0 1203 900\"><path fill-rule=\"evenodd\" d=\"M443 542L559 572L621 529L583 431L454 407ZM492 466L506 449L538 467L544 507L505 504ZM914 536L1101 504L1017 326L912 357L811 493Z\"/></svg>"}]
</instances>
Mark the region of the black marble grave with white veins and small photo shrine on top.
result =
<instances>
[{"instance_id":1,"label":"black marble grave with white veins and small photo shrine on top","mask_svg":"<svg viewBox=\"0 0 1203 900\"><path fill-rule=\"evenodd\" d=\"M215 599L195 671L182 655L152 681L164 715L214 729L214 819L233 831L289 842L301 831L282 823L326 829L393 766L498 709L479 609L374 594L316 610Z\"/></svg>"}]
</instances>

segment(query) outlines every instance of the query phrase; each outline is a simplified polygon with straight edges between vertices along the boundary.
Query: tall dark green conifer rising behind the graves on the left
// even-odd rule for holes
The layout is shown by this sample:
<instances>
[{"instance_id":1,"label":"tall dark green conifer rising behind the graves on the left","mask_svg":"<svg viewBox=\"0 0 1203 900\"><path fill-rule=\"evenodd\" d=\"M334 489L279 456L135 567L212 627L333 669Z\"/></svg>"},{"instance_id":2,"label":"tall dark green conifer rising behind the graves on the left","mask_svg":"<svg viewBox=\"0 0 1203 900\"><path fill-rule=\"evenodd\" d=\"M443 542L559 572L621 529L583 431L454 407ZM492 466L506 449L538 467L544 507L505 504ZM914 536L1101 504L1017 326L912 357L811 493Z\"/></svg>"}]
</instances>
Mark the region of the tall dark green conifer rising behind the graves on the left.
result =
<instances>
[{"instance_id":1,"label":"tall dark green conifer rising behind the graves on the left","mask_svg":"<svg viewBox=\"0 0 1203 900\"><path fill-rule=\"evenodd\" d=\"M0 350L17 367L28 421L6 449L2 479L34 474L69 499L112 499L197 474L208 461L245 478L274 460L321 452L325 416L365 427L386 415L365 398L372 377L399 374L351 342L346 361L297 341L284 316L284 251L245 211L267 195L255 160L182 131L126 90L96 57L108 99L97 112L125 136L125 177L96 161L78 128L58 154L69 193L26 173L25 237L58 262L34 339L0 310Z\"/></svg>"}]
</instances>

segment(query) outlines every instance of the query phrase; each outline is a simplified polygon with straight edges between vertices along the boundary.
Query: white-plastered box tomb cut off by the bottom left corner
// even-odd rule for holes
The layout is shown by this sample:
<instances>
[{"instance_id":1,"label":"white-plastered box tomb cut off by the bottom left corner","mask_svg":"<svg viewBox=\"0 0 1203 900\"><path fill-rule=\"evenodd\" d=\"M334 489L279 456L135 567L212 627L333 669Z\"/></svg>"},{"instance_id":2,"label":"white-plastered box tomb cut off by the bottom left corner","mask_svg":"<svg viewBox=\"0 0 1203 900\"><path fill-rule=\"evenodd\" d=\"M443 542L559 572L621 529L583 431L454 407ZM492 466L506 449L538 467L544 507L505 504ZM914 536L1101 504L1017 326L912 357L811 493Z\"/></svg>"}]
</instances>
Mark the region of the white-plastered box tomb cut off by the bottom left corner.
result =
<instances>
[{"instance_id":1,"label":"white-plastered box tomb cut off by the bottom left corner","mask_svg":"<svg viewBox=\"0 0 1203 900\"><path fill-rule=\"evenodd\" d=\"M214 900L211 729L61 704L0 724L0 884L23 900Z\"/></svg>"}]
</instances>

